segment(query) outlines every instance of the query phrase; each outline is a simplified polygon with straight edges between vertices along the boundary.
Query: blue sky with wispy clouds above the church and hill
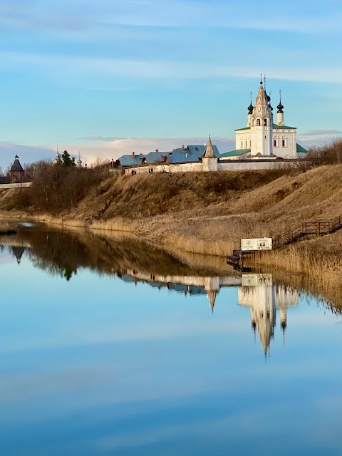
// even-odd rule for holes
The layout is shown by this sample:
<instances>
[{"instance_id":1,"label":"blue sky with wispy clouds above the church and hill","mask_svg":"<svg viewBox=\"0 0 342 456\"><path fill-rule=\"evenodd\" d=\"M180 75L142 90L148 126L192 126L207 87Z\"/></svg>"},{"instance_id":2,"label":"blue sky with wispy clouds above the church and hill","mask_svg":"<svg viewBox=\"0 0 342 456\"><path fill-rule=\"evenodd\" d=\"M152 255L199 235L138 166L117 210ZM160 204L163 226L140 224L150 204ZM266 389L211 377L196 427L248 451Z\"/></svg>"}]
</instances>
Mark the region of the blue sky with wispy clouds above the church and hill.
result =
<instances>
[{"instance_id":1,"label":"blue sky with wispy clouds above the church and hill","mask_svg":"<svg viewBox=\"0 0 342 456\"><path fill-rule=\"evenodd\" d=\"M342 4L0 0L0 166L234 147L260 73L299 142L342 134Z\"/></svg>"}]
</instances>

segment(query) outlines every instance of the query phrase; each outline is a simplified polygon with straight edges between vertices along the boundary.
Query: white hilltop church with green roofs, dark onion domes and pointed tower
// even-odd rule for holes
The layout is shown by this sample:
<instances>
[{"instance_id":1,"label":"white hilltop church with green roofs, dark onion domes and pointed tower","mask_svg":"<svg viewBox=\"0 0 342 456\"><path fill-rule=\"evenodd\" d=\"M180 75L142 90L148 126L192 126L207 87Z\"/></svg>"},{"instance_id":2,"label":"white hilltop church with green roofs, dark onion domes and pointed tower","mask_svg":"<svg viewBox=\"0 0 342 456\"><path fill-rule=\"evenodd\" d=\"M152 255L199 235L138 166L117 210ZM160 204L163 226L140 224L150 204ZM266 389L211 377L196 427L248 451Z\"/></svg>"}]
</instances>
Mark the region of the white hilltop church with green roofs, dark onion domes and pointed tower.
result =
<instances>
[{"instance_id":1,"label":"white hilltop church with green roofs, dark onion domes and pointed tower","mask_svg":"<svg viewBox=\"0 0 342 456\"><path fill-rule=\"evenodd\" d=\"M285 125L281 90L279 90L279 95L276 123L274 123L271 97L266 93L266 78L264 78L264 83L261 78L254 106L251 93L247 126L235 130L235 150L221 154L219 156L221 160L305 157L307 150L297 143L296 127Z\"/></svg>"}]
</instances>

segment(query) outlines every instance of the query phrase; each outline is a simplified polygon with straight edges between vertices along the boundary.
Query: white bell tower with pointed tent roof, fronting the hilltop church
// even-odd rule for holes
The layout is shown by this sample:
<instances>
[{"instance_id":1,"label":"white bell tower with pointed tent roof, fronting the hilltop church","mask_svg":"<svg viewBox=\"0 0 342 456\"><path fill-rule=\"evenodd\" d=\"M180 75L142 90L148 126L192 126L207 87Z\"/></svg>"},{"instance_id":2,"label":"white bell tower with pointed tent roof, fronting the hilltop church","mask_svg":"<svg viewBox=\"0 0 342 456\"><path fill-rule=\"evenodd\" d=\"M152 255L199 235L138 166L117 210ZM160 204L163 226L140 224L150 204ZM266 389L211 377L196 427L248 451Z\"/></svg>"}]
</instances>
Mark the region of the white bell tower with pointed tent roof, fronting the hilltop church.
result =
<instances>
[{"instance_id":1,"label":"white bell tower with pointed tent roof, fronting the hilltop church","mask_svg":"<svg viewBox=\"0 0 342 456\"><path fill-rule=\"evenodd\" d=\"M266 85L266 77L264 78ZM250 116L251 128L251 155L271 155L273 152L273 114L271 98L267 95L264 83L259 84L259 91L253 113Z\"/></svg>"}]
</instances>

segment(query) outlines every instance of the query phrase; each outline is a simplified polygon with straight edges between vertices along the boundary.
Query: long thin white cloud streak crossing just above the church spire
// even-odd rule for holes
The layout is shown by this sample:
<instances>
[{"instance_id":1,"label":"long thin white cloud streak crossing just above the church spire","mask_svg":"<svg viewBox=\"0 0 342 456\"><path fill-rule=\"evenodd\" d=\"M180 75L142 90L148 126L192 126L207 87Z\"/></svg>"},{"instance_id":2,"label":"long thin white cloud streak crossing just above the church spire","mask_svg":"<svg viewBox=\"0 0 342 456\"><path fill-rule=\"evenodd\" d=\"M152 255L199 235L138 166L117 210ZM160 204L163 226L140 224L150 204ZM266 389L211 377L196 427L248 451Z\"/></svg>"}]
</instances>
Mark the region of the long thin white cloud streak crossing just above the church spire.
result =
<instances>
[{"instance_id":1,"label":"long thin white cloud streak crossing just above the church spire","mask_svg":"<svg viewBox=\"0 0 342 456\"><path fill-rule=\"evenodd\" d=\"M205 61L174 61L174 60L135 60L125 58L96 58L86 56L67 56L46 53L0 52L3 67L26 65L28 68L39 66L56 76L66 76L79 81L86 74L118 76L129 78L152 79L210 79L210 78L254 78L256 68L249 66L232 66L225 63ZM341 68L264 68L264 72L272 79L289 81L316 81L342 83ZM98 89L99 90L99 89Z\"/></svg>"}]
</instances>

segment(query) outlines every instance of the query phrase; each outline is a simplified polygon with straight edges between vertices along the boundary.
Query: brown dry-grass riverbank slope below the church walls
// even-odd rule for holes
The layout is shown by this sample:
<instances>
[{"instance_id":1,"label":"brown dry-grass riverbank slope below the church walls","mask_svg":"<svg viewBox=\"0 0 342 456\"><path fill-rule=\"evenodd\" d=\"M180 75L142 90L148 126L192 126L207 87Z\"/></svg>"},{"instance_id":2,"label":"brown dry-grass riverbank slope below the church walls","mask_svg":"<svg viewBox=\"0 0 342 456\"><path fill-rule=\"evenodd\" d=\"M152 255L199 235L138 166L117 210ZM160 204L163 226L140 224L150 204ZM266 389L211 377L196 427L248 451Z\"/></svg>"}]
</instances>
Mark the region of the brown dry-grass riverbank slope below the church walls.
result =
<instances>
[{"instance_id":1,"label":"brown dry-grass riverbank slope below the church walls","mask_svg":"<svg viewBox=\"0 0 342 456\"><path fill-rule=\"evenodd\" d=\"M31 189L24 189L26 192ZM0 195L0 216L125 232L191 254L225 257L242 237L274 237L303 221L342 213L342 165L307 172L216 172L106 178L76 207L49 214ZM262 254L256 264L340 274L342 236L299 242Z\"/></svg>"}]
</instances>

